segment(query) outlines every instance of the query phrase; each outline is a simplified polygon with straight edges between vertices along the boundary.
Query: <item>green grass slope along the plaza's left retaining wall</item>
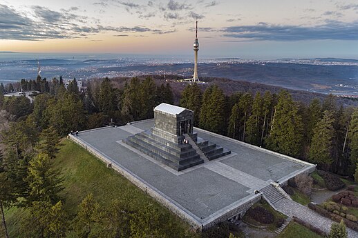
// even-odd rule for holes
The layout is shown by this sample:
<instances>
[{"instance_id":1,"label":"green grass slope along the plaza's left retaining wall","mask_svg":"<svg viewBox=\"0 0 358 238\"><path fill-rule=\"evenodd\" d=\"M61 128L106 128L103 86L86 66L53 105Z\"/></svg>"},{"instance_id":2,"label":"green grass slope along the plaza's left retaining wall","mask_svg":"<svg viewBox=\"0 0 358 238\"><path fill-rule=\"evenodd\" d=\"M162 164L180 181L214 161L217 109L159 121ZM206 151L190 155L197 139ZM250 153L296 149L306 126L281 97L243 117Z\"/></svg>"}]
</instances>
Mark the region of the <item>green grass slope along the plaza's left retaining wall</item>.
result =
<instances>
[{"instance_id":1,"label":"green grass slope along the plaza's left retaining wall","mask_svg":"<svg viewBox=\"0 0 358 238\"><path fill-rule=\"evenodd\" d=\"M128 201L129 208L140 210L148 204L152 204L167 219L163 224L164 229L173 232L172 237L199 237L191 232L189 224L182 221L167 208L158 204L149 195L131 184L111 168L107 168L102 161L91 155L84 148L68 139L62 140L54 163L55 168L62 171L64 177L64 190L60 195L64 198L64 208L74 217L77 206L92 193L100 206L106 206L114 199ZM11 231L10 237L21 237L19 234L19 221L23 217L23 210L11 208L6 212L8 227ZM75 237L70 235L70 237Z\"/></svg>"}]
</instances>

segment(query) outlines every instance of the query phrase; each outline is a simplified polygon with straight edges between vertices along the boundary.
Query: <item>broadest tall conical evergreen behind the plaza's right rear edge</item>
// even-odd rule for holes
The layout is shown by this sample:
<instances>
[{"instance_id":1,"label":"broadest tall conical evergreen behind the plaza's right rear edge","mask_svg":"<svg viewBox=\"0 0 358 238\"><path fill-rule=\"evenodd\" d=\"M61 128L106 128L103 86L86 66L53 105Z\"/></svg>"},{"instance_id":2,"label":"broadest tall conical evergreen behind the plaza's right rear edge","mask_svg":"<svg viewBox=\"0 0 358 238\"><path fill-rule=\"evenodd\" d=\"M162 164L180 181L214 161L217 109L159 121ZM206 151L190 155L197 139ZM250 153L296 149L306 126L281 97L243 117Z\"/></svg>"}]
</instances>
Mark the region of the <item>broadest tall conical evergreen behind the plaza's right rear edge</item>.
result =
<instances>
[{"instance_id":1,"label":"broadest tall conical evergreen behind the plaza's right rear edge","mask_svg":"<svg viewBox=\"0 0 358 238\"><path fill-rule=\"evenodd\" d=\"M267 148L284 155L299 156L303 139L302 120L292 96L285 90L279 94Z\"/></svg>"}]
</instances>

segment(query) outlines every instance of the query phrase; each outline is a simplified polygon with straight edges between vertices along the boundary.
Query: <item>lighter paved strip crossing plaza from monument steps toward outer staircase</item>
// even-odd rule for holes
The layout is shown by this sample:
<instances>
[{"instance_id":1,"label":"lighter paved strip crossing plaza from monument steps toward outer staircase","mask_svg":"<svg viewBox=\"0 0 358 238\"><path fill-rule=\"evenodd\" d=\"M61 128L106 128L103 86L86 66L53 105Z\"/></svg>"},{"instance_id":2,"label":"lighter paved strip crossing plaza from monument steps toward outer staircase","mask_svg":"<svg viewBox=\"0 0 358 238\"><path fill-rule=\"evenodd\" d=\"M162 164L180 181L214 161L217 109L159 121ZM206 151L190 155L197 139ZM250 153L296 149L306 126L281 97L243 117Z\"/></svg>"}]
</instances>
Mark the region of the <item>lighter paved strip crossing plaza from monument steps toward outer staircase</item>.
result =
<instances>
[{"instance_id":1,"label":"lighter paved strip crossing plaza from monument steps toward outer staircase","mask_svg":"<svg viewBox=\"0 0 358 238\"><path fill-rule=\"evenodd\" d=\"M227 179L231 179L239 184L243 184L243 186L246 186L247 188L260 189L269 184L243 171L227 166L225 163L221 163L219 161L210 162L211 163L206 163L204 167L218 173L219 175L227 177Z\"/></svg>"}]
</instances>

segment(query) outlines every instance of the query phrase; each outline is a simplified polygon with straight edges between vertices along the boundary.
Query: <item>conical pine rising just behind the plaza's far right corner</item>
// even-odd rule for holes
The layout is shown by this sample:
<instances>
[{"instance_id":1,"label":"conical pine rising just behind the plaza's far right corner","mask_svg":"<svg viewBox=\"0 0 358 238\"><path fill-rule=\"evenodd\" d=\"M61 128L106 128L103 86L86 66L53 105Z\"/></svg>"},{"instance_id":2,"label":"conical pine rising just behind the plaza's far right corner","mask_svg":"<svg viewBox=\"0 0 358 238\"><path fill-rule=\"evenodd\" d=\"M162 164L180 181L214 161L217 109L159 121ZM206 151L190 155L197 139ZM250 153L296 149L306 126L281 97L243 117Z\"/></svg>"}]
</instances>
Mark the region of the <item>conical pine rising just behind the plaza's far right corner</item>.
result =
<instances>
[{"instance_id":1,"label":"conical pine rising just behind the plaza's far right corner","mask_svg":"<svg viewBox=\"0 0 358 238\"><path fill-rule=\"evenodd\" d=\"M320 166L330 166L332 163L332 147L335 129L333 128L333 113L328 110L323 112L323 118L314 128L309 158Z\"/></svg>"}]
</instances>

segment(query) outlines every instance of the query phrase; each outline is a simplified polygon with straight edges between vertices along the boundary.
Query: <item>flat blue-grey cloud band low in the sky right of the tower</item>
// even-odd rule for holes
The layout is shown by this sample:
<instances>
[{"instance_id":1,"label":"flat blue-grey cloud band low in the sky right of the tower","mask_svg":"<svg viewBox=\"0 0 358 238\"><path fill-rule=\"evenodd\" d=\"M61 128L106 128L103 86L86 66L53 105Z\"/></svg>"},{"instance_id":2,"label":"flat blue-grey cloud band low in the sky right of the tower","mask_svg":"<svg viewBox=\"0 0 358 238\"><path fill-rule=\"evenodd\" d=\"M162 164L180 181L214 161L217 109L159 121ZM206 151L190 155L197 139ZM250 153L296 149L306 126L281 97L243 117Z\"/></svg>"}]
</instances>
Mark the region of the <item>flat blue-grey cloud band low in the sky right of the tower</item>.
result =
<instances>
[{"instance_id":1,"label":"flat blue-grey cloud band low in the sky right of the tower","mask_svg":"<svg viewBox=\"0 0 358 238\"><path fill-rule=\"evenodd\" d=\"M222 29L224 37L257 41L358 40L358 21L326 21L320 26L289 26L258 23Z\"/></svg>"}]
</instances>

